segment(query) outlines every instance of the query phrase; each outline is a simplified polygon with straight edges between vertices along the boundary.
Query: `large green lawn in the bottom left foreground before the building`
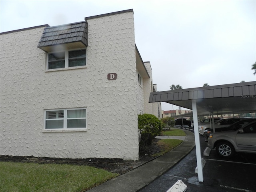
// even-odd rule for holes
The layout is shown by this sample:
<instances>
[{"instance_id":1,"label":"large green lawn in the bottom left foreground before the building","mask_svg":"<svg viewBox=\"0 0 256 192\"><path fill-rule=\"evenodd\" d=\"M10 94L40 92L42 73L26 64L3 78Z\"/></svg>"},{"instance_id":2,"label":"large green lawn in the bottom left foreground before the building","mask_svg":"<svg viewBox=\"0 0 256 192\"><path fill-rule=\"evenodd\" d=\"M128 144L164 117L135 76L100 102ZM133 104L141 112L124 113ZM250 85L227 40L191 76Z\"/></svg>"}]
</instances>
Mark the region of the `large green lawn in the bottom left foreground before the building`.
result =
<instances>
[{"instance_id":1,"label":"large green lawn in the bottom left foreground before the building","mask_svg":"<svg viewBox=\"0 0 256 192\"><path fill-rule=\"evenodd\" d=\"M1 192L81 192L118 176L68 164L0 162L0 171Z\"/></svg>"}]
</instances>

